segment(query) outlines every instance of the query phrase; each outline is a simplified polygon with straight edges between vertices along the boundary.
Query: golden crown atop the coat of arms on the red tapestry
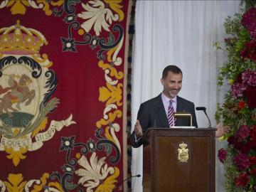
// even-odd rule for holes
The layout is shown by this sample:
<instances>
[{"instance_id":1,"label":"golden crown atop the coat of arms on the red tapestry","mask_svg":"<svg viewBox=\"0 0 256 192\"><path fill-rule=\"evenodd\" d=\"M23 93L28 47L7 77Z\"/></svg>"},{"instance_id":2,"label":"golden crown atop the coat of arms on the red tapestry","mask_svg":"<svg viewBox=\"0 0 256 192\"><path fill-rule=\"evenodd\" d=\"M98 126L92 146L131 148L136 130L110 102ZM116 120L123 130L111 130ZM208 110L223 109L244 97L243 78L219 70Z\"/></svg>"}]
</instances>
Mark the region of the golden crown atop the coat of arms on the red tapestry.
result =
<instances>
[{"instance_id":1,"label":"golden crown atop the coat of arms on the red tapestry","mask_svg":"<svg viewBox=\"0 0 256 192\"><path fill-rule=\"evenodd\" d=\"M33 55L48 42L42 33L33 28L16 25L0 29L0 53Z\"/></svg>"}]
</instances>

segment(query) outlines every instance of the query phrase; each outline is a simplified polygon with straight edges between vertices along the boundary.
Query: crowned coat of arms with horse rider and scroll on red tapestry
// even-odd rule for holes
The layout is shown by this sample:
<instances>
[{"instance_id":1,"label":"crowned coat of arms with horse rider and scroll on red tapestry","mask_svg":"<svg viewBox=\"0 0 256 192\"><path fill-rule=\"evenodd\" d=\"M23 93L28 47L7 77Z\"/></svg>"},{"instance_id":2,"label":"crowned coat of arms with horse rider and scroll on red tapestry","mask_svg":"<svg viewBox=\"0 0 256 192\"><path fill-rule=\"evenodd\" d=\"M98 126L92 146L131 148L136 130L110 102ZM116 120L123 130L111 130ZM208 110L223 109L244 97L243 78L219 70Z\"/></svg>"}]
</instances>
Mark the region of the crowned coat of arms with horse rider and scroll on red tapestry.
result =
<instances>
[{"instance_id":1,"label":"crowned coat of arms with horse rider and scroll on red tapestry","mask_svg":"<svg viewBox=\"0 0 256 192\"><path fill-rule=\"evenodd\" d=\"M42 33L21 26L19 21L0 29L0 151L15 166L27 151L35 151L53 138L56 131L74 124L72 114L62 121L48 114L57 107L58 98L51 97L57 87L53 65L46 54L39 55Z\"/></svg>"}]
</instances>

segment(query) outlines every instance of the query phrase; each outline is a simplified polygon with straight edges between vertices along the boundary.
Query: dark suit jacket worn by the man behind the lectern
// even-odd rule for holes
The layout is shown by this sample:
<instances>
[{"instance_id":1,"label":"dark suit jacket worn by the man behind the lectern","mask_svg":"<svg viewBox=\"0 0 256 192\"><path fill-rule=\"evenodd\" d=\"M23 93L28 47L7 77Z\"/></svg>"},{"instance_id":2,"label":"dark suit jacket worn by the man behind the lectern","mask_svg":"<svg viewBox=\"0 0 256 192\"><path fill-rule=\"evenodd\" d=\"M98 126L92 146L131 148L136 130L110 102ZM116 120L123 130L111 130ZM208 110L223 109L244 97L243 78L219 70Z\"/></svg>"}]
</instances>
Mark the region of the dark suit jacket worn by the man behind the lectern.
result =
<instances>
[{"instance_id":1,"label":"dark suit jacket worn by the man behind the lectern","mask_svg":"<svg viewBox=\"0 0 256 192\"><path fill-rule=\"evenodd\" d=\"M190 112L192 114L192 124L198 127L196 122L195 105L193 102L183 99L177 96L177 109L176 112ZM164 110L164 104L161 100L161 94L148 100L139 107L139 112L137 115L139 123L142 125L143 135L149 127L169 127L166 112ZM188 118L177 118L175 126L190 126L190 120ZM135 142L134 132L130 137L130 143L133 147L139 147L143 144L143 138Z\"/></svg>"}]
</instances>

